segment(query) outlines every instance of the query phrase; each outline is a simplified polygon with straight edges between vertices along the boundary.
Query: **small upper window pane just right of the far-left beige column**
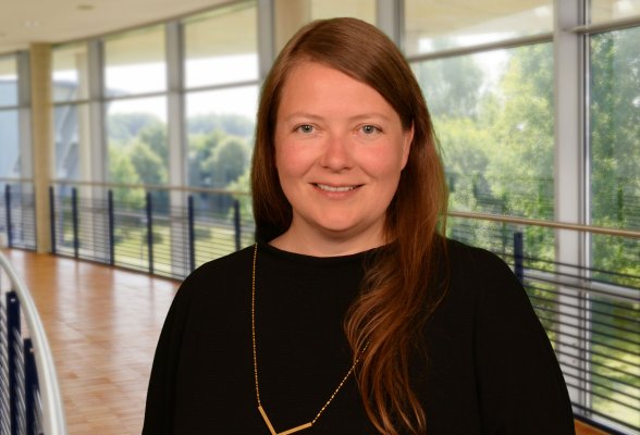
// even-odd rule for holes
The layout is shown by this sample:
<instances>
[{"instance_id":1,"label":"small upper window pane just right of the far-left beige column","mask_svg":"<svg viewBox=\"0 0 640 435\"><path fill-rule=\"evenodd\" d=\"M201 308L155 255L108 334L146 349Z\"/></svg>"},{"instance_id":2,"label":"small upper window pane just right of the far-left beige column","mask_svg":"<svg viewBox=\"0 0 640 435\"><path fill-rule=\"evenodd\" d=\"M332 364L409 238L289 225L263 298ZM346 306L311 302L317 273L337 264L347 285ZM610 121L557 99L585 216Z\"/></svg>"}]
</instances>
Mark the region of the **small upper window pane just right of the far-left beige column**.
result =
<instances>
[{"instance_id":1,"label":"small upper window pane just right of the far-left beige column","mask_svg":"<svg viewBox=\"0 0 640 435\"><path fill-rule=\"evenodd\" d=\"M87 99L88 53L86 44L75 44L52 51L53 102Z\"/></svg>"}]
</instances>

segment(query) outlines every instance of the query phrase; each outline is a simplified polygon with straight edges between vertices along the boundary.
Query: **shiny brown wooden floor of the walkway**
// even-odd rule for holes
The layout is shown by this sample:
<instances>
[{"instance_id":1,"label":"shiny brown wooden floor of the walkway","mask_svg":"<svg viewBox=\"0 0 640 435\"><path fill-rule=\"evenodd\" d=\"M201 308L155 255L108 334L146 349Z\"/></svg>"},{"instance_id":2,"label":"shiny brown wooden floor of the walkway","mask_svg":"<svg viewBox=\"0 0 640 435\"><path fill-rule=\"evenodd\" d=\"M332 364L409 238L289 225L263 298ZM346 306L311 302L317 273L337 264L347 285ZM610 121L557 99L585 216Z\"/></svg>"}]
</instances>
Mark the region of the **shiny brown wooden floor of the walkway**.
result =
<instances>
[{"instance_id":1,"label":"shiny brown wooden floor of the walkway","mask_svg":"<svg viewBox=\"0 0 640 435\"><path fill-rule=\"evenodd\" d=\"M2 252L40 313L69 434L139 434L153 351L179 284L56 256ZM579 422L576 433L602 434Z\"/></svg>"}]
</instances>

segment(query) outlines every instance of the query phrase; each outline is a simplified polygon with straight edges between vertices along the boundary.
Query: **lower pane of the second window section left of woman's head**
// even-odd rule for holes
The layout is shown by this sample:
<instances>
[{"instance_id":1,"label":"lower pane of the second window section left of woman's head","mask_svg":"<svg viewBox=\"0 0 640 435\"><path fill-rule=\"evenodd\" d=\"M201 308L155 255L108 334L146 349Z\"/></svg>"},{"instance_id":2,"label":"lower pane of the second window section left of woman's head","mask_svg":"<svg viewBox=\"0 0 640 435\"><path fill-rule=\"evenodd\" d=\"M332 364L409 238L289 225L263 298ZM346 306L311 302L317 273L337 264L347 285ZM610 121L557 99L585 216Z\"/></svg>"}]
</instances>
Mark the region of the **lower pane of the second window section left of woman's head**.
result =
<instances>
[{"instance_id":1,"label":"lower pane of the second window section left of woman's head","mask_svg":"<svg viewBox=\"0 0 640 435\"><path fill-rule=\"evenodd\" d=\"M169 179L167 99L112 101L107 113L109 181L165 184ZM130 194L121 191L123 196Z\"/></svg>"}]
</instances>

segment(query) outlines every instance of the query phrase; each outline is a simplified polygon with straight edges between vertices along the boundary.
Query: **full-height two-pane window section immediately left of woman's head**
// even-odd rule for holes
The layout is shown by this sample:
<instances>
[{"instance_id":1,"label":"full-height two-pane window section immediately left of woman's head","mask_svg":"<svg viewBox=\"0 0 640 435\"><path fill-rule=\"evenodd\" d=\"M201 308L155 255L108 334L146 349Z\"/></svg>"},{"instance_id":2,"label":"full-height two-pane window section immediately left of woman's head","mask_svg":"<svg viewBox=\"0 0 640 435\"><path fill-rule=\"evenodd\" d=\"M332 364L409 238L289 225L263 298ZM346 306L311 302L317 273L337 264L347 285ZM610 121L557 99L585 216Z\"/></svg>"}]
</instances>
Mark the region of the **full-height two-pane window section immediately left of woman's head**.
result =
<instances>
[{"instance_id":1,"label":"full-height two-pane window section immediately left of woman's head","mask_svg":"<svg viewBox=\"0 0 640 435\"><path fill-rule=\"evenodd\" d=\"M188 184L248 191L259 84L255 3L186 21L184 34Z\"/></svg>"}]
</instances>

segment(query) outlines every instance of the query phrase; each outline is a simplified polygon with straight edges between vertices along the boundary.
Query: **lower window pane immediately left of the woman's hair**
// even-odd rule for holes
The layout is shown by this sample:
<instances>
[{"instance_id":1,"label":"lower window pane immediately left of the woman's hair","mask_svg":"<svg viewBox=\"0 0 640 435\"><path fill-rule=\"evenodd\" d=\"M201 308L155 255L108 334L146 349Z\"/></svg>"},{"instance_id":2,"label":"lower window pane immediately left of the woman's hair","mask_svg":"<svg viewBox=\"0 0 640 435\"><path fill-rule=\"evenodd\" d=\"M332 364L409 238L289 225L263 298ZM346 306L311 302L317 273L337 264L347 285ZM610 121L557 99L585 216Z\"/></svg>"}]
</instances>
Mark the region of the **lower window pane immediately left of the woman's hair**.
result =
<instances>
[{"instance_id":1,"label":"lower window pane immediately left of the woman's hair","mask_svg":"<svg viewBox=\"0 0 640 435\"><path fill-rule=\"evenodd\" d=\"M188 183L249 191L258 87L187 96Z\"/></svg>"}]
</instances>

